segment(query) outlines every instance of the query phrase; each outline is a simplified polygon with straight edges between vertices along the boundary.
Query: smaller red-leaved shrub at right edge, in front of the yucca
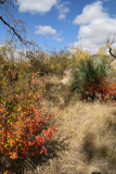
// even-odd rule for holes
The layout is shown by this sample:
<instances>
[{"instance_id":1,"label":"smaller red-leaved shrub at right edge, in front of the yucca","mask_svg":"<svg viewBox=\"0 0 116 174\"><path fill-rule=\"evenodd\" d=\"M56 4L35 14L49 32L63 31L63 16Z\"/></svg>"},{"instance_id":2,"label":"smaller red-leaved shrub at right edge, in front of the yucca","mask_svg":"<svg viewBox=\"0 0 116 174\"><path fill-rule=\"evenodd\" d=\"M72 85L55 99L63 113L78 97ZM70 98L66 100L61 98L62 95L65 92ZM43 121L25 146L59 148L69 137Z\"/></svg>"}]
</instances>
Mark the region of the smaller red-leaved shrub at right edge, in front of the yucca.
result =
<instances>
[{"instance_id":1,"label":"smaller red-leaved shrub at right edge, in front of the yucca","mask_svg":"<svg viewBox=\"0 0 116 174\"><path fill-rule=\"evenodd\" d=\"M116 101L116 82L109 83L102 74L96 76L85 84L83 94L86 98L95 99L98 95L101 100Z\"/></svg>"}]
</instances>

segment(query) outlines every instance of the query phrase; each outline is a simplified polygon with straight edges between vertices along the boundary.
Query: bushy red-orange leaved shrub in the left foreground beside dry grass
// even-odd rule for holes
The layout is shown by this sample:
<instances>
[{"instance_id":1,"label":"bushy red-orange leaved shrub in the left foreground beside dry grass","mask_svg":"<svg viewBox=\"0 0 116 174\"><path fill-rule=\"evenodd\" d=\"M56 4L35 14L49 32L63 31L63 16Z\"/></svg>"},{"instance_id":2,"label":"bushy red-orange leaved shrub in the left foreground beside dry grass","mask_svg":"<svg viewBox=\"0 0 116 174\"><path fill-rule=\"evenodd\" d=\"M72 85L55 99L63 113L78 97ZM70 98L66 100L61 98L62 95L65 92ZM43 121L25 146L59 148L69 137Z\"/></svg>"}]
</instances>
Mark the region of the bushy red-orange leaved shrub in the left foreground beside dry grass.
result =
<instances>
[{"instance_id":1,"label":"bushy red-orange leaved shrub in the left foreground beside dry grass","mask_svg":"<svg viewBox=\"0 0 116 174\"><path fill-rule=\"evenodd\" d=\"M47 152L46 144L55 134L54 114L42 102L40 80L33 74L24 90L10 87L9 96L0 101L0 154L11 159ZM18 91L15 91L15 90Z\"/></svg>"}]
</instances>

